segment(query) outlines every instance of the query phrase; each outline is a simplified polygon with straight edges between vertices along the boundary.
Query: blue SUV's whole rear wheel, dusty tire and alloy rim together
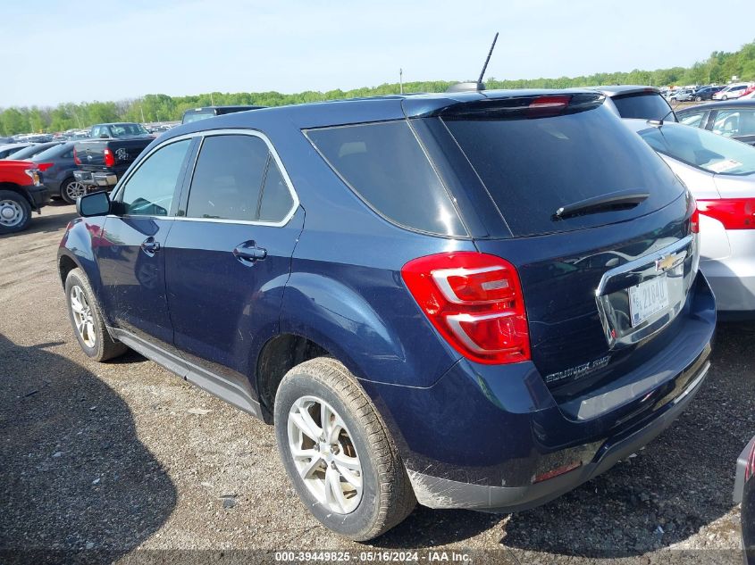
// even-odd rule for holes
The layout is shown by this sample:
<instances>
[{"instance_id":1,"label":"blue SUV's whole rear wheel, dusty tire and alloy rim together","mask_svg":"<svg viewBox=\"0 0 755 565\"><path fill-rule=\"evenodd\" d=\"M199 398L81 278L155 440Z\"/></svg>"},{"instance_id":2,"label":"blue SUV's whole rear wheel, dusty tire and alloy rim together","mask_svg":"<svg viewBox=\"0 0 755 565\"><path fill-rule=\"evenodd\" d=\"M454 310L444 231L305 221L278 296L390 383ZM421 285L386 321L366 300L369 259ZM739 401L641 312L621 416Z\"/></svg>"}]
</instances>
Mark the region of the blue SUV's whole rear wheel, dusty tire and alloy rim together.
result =
<instances>
[{"instance_id":1,"label":"blue SUV's whole rear wheel, dusty tire and alloy rim together","mask_svg":"<svg viewBox=\"0 0 755 565\"><path fill-rule=\"evenodd\" d=\"M275 398L275 436L302 502L341 536L381 536L416 499L388 428L357 379L319 357L286 374Z\"/></svg>"}]
</instances>

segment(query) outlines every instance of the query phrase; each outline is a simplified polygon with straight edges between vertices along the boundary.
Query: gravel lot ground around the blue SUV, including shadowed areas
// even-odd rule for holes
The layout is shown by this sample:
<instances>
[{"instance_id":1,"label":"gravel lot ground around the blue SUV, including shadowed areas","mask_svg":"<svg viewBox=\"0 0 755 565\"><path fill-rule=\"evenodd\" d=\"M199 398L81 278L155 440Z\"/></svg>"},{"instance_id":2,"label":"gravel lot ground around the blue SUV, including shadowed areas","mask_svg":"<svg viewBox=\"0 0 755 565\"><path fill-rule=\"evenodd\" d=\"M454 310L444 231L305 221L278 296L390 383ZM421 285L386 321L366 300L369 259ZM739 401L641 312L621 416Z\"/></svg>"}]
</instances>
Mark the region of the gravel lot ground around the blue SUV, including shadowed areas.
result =
<instances>
[{"instance_id":1,"label":"gravel lot ground around the blue SUV, including shadowed areas","mask_svg":"<svg viewBox=\"0 0 755 565\"><path fill-rule=\"evenodd\" d=\"M755 434L755 326L721 326L692 407L573 493L510 516L417 508L356 544L298 502L272 428L136 353L105 364L80 353L55 269L74 216L52 205L28 231L0 237L0 563L249 563L281 549L741 563L731 498L736 456Z\"/></svg>"}]
</instances>

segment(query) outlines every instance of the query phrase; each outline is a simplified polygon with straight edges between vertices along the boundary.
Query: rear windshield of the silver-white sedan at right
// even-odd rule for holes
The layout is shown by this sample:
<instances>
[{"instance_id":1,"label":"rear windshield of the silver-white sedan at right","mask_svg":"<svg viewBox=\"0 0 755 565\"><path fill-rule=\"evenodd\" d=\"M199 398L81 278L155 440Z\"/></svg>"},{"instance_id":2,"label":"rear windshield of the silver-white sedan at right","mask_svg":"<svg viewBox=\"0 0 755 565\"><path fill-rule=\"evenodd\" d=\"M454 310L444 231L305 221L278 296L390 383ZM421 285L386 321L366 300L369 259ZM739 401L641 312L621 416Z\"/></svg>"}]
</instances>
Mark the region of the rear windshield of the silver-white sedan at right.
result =
<instances>
[{"instance_id":1,"label":"rear windshield of the silver-white sedan at right","mask_svg":"<svg viewBox=\"0 0 755 565\"><path fill-rule=\"evenodd\" d=\"M755 149L706 129L667 124L639 132L660 154L709 172L749 175L755 172Z\"/></svg>"}]
</instances>

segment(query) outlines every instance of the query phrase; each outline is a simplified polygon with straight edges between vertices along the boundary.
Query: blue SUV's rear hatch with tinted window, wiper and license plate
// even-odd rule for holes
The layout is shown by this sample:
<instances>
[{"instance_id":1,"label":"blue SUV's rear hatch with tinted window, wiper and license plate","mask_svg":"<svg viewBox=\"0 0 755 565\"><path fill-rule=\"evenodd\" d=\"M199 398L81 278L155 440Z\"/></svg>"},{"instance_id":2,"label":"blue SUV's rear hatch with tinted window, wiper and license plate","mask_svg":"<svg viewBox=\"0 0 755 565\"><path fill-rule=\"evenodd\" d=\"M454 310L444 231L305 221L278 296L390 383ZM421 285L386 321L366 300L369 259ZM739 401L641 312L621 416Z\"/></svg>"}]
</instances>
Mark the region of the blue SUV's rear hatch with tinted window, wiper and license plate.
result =
<instances>
[{"instance_id":1,"label":"blue SUV's rear hatch with tinted window, wiper and license plate","mask_svg":"<svg viewBox=\"0 0 755 565\"><path fill-rule=\"evenodd\" d=\"M466 157L447 181L487 221L478 249L516 266L532 359L558 402L662 349L697 270L694 204L602 96L482 100L423 120Z\"/></svg>"}]
</instances>

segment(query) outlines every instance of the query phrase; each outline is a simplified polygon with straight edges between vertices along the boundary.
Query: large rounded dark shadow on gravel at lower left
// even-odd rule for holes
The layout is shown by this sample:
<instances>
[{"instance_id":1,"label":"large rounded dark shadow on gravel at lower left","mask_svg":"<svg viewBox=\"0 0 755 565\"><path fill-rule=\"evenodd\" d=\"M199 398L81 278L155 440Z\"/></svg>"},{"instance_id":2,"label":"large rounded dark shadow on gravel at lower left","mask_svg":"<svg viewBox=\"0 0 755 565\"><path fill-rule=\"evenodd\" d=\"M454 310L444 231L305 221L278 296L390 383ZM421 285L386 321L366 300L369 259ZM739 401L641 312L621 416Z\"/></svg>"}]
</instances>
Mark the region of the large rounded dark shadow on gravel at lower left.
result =
<instances>
[{"instance_id":1,"label":"large rounded dark shadow on gravel at lower left","mask_svg":"<svg viewBox=\"0 0 755 565\"><path fill-rule=\"evenodd\" d=\"M109 563L163 525L176 489L128 405L50 345L0 334L0 561Z\"/></svg>"}]
</instances>

